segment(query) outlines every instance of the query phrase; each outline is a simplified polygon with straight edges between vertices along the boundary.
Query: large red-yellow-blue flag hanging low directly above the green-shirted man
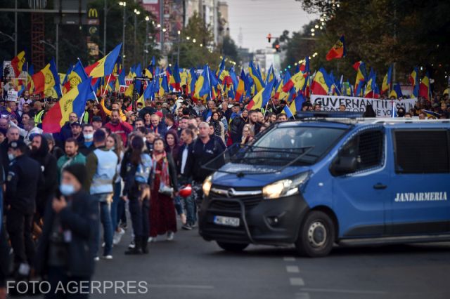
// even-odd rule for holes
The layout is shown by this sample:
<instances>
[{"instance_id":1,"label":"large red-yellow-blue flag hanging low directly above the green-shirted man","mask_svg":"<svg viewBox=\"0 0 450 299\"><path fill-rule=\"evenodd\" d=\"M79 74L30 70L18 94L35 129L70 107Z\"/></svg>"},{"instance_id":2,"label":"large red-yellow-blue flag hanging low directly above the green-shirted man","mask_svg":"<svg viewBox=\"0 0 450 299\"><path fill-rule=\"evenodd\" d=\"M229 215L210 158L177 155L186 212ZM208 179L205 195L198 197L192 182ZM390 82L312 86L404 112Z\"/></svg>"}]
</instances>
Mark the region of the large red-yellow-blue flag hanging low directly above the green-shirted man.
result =
<instances>
[{"instance_id":1,"label":"large red-yellow-blue flag hanging low directly above the green-shirted man","mask_svg":"<svg viewBox=\"0 0 450 299\"><path fill-rule=\"evenodd\" d=\"M66 121L69 121L69 114L75 112L78 117L82 117L86 100L92 97L91 80L84 80L68 93L45 114L42 128L45 133L58 133Z\"/></svg>"}]
</instances>

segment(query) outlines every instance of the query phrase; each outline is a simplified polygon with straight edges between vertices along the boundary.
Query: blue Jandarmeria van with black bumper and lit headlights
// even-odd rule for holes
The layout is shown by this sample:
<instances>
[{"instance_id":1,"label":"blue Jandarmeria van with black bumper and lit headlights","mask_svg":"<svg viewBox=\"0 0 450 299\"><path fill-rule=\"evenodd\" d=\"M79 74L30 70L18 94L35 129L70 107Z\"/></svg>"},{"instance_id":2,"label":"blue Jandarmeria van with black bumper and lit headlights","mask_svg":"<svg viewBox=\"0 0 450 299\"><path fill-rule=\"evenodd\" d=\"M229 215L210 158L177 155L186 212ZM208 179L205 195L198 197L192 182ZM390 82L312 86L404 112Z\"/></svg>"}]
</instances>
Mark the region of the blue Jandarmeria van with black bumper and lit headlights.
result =
<instances>
[{"instance_id":1,"label":"blue Jandarmeria van with black bumper and lit headlights","mask_svg":"<svg viewBox=\"0 0 450 299\"><path fill-rule=\"evenodd\" d=\"M319 257L334 244L450 241L449 121L288 121L216 170L199 232L226 251L295 244Z\"/></svg>"}]
</instances>

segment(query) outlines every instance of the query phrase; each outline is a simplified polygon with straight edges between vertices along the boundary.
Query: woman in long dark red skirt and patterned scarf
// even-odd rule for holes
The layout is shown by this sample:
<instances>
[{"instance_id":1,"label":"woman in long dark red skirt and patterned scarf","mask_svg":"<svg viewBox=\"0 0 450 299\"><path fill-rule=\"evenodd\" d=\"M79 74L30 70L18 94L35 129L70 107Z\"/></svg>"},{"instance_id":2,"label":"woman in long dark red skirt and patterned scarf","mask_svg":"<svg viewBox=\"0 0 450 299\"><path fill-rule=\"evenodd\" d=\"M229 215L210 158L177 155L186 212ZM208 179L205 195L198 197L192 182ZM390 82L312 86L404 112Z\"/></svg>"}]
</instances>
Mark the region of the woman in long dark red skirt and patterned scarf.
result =
<instances>
[{"instance_id":1,"label":"woman in long dark red skirt and patterned scarf","mask_svg":"<svg viewBox=\"0 0 450 299\"><path fill-rule=\"evenodd\" d=\"M176 166L174 159L165 152L164 140L156 138L153 142L153 174L150 196L150 237L155 241L158 234L167 234L167 240L174 239L176 215L174 195L178 194ZM173 188L172 194L163 194L164 189Z\"/></svg>"}]
</instances>

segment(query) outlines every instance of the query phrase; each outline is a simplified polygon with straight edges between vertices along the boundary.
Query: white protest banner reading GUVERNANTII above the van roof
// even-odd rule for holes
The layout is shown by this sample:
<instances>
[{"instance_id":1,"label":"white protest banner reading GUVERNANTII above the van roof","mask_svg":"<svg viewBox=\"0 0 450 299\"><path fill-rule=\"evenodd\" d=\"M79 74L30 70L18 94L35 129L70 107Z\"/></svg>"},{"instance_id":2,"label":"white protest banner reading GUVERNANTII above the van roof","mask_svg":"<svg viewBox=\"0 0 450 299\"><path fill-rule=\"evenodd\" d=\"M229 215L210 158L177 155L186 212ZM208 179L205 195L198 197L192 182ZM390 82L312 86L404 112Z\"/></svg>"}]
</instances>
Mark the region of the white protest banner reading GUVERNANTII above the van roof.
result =
<instances>
[{"instance_id":1,"label":"white protest banner reading GUVERNANTII above the van roof","mask_svg":"<svg viewBox=\"0 0 450 299\"><path fill-rule=\"evenodd\" d=\"M392 103L399 107L404 107L405 112L409 112L414 107L417 99L405 100L378 100L371 98L349 97L345 95L311 95L311 103L321 105L323 111L339 111L340 105L345 105L346 111L364 112L366 105L372 105L377 117L392 117Z\"/></svg>"}]
</instances>

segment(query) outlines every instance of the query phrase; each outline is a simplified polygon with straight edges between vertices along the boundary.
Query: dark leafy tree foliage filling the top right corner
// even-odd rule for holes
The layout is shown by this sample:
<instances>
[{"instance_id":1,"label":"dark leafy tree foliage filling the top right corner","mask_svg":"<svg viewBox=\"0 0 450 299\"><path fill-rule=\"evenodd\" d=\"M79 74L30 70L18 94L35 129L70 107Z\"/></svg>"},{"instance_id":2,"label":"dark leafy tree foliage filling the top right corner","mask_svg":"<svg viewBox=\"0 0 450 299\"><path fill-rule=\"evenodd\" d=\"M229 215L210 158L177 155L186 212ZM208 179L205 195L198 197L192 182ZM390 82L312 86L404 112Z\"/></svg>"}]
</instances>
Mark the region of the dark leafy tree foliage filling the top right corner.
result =
<instances>
[{"instance_id":1,"label":"dark leafy tree foliage filling the top right corner","mask_svg":"<svg viewBox=\"0 0 450 299\"><path fill-rule=\"evenodd\" d=\"M316 43L319 55L313 65L340 65L340 71L350 74L351 65L364 60L378 71L380 81L394 62L397 81L406 81L413 67L419 65L435 78L436 87L444 84L444 72L450 72L450 43L446 40L450 35L449 1L297 1L327 20L325 32ZM341 34L345 34L347 58L326 62L326 52Z\"/></svg>"}]
</instances>

